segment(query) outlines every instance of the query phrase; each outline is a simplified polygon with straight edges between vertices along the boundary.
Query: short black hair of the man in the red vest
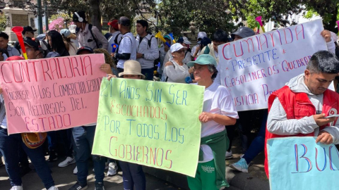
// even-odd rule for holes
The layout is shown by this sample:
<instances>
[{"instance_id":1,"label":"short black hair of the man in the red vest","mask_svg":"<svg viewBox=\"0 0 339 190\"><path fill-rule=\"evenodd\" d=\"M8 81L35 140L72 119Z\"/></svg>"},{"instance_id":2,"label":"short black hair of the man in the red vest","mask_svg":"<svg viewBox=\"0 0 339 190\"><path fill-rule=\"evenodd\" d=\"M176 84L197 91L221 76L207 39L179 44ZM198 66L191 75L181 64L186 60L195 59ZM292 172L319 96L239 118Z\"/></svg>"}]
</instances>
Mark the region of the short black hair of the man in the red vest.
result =
<instances>
[{"instance_id":1,"label":"short black hair of the man in the red vest","mask_svg":"<svg viewBox=\"0 0 339 190\"><path fill-rule=\"evenodd\" d=\"M339 59L330 51L318 51L311 56L307 70L316 73L337 74L339 72Z\"/></svg>"}]
</instances>

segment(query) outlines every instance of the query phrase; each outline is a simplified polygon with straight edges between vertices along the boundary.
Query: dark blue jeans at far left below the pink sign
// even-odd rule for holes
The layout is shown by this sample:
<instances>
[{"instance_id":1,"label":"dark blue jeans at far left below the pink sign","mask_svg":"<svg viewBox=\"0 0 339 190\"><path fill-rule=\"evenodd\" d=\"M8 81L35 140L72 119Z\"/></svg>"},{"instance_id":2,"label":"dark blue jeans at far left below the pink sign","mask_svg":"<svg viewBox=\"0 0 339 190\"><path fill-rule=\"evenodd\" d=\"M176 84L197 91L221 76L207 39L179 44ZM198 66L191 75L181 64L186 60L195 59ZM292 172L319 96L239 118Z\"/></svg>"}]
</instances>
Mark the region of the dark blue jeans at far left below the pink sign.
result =
<instances>
[{"instance_id":1,"label":"dark blue jeans at far left below the pink sign","mask_svg":"<svg viewBox=\"0 0 339 190\"><path fill-rule=\"evenodd\" d=\"M44 160L42 146L34 149L28 148L23 143L20 134L11 134L8 136L7 129L0 127L0 151L4 156L6 171L11 181L11 186L20 186L22 184L18 166L18 148L20 146L25 153L27 153L28 157L30 157L35 170L37 171L37 175L44 183L44 187L49 189L51 186L54 186L51 170L49 170L46 160Z\"/></svg>"}]
</instances>

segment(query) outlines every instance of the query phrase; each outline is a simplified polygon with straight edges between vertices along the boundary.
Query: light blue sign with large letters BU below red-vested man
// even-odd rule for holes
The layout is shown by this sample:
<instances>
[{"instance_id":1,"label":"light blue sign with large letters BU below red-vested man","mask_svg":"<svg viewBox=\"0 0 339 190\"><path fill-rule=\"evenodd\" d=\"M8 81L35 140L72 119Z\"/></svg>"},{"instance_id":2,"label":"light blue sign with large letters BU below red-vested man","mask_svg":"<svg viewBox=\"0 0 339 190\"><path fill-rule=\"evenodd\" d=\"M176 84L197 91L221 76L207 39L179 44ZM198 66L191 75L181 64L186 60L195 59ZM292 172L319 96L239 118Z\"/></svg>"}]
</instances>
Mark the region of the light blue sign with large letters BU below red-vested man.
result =
<instances>
[{"instance_id":1,"label":"light blue sign with large letters BU below red-vested man","mask_svg":"<svg viewBox=\"0 0 339 190\"><path fill-rule=\"evenodd\" d=\"M268 139L270 190L338 189L339 152L316 137Z\"/></svg>"}]
</instances>

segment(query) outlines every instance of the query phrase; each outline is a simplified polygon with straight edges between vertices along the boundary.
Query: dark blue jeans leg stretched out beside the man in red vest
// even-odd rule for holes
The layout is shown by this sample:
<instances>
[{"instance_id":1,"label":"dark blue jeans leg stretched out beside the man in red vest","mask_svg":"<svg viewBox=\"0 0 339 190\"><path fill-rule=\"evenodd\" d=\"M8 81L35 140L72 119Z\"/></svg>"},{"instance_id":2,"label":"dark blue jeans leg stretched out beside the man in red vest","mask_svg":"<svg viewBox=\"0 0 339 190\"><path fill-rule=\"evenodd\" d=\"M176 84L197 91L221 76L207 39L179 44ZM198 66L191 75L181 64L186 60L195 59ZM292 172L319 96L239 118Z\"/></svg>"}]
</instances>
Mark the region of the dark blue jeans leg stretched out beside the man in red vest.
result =
<instances>
[{"instance_id":1,"label":"dark blue jeans leg stretched out beside the man in red vest","mask_svg":"<svg viewBox=\"0 0 339 190\"><path fill-rule=\"evenodd\" d=\"M258 135L252 141L249 149L242 158L246 160L246 163L249 164L251 161L258 156L265 146L265 134L266 134L266 122L267 122L268 110L263 113L263 120L261 122L261 127L259 129Z\"/></svg>"}]
</instances>

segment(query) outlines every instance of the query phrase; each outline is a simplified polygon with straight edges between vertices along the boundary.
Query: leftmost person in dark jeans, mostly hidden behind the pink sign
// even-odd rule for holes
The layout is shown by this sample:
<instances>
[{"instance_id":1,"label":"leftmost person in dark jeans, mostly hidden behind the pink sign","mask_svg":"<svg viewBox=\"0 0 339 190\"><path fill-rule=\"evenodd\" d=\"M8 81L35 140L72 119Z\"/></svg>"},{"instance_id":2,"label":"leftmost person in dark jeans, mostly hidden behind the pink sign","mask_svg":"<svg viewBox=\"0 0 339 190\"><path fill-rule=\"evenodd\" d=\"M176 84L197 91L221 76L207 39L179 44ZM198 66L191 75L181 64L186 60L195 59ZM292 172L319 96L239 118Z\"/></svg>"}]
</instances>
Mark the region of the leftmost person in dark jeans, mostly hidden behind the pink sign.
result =
<instances>
[{"instance_id":1,"label":"leftmost person in dark jeans, mostly hidden behind the pink sign","mask_svg":"<svg viewBox=\"0 0 339 190\"><path fill-rule=\"evenodd\" d=\"M30 39L32 41L32 39ZM34 42L34 41L33 41ZM23 57L12 56L7 61L24 60ZM54 186L54 181L51 175L46 160L44 160L43 146L32 148L23 142L21 134L8 135L7 129L7 115L5 110L4 96L2 95L3 89L0 87L0 152L4 156L6 172L8 173L11 186L13 190L23 190L23 182L20 177L19 156L18 148L22 147L32 164L35 166L37 175L44 183L47 190L58 190Z\"/></svg>"}]
</instances>

